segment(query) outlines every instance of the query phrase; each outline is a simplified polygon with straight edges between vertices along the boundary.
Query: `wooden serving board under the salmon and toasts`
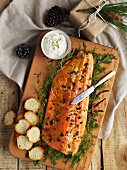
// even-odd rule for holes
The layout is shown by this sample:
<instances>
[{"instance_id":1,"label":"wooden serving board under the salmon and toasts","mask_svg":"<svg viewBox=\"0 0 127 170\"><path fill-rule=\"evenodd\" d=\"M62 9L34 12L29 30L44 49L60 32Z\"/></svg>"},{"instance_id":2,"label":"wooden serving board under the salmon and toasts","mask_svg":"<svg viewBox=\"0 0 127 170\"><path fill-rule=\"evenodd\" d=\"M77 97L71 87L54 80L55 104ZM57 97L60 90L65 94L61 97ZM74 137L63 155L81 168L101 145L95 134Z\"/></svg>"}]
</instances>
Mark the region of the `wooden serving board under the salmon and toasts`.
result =
<instances>
[{"instance_id":1,"label":"wooden serving board under the salmon and toasts","mask_svg":"<svg viewBox=\"0 0 127 170\"><path fill-rule=\"evenodd\" d=\"M50 62L49 62L50 60L48 58L44 57L44 54L42 53L41 45L40 45L41 39L45 35L46 32L47 31L42 32L42 34L39 38L39 41L38 41L38 44L37 44L37 47L36 47L36 51L35 51L35 55L34 55L34 58L33 58L33 62L32 62L32 65L31 65L31 69L30 69L30 72L29 72L29 76L28 76L28 79L27 79L26 87L25 87L25 90L24 90L24 94L23 94L23 97L22 97L22 100L21 100L21 103L20 103L18 114L24 113L23 104L24 104L26 99L28 99L30 97L37 97L36 93L35 93L35 86L36 86L36 83L37 83L37 79L36 79L34 74L38 74L39 72L44 73L41 77L42 83L44 81L45 76L48 74L47 66L50 64ZM81 39L78 39L78 38L75 38L75 37L71 37L71 36L70 36L70 39L71 39L72 49L78 48L79 45L81 45L81 47L83 47L83 42L84 42L85 45L87 46L88 51L92 51L93 49L96 49L97 53L112 54L116 57L116 60L112 60L111 64L103 64L106 67L106 71L105 71L105 73L103 73L101 75L102 77L107 75L109 72L111 72L113 70L117 71L118 64L119 64L119 53L118 53L117 50L110 48L110 47L95 44L95 43L92 43L92 42L89 42L89 41L81 40ZM97 128L93 131L93 135L95 135L95 136L98 136L98 134L99 134L101 124L103 122L103 118L104 118L104 115L105 115L106 107L107 107L107 104L108 104L108 100L109 100L109 97L110 97L110 93L111 93L111 89L112 89L112 86L113 86L114 79L115 79L115 76L112 77L111 79L109 79L105 83L106 89L110 90L110 92L102 93L100 95L100 100L103 99L103 98L106 98L106 100L99 105L99 109L104 110L104 112L99 114L99 116L97 118L99 128ZM95 144L96 144L96 142L97 142L97 138L94 139ZM90 163L91 163L94 148L95 148L95 145L91 146L91 148L87 151L87 154L85 156L83 156L81 161L75 165L75 167L74 167L75 170L79 170L79 169L88 170ZM15 134L14 130L12 132L10 143L9 143L9 150L10 150L10 153L13 156L24 159L24 160L29 160L28 158L25 158L26 151L22 151L22 150L18 149L18 147L16 145L16 134ZM58 168L58 169L65 169L65 170L71 169L70 163L65 164L65 163L62 162L62 160L58 161L58 163L56 165L52 165L50 160L47 160L43 164L47 165L47 166L55 167L55 168Z\"/></svg>"}]
</instances>

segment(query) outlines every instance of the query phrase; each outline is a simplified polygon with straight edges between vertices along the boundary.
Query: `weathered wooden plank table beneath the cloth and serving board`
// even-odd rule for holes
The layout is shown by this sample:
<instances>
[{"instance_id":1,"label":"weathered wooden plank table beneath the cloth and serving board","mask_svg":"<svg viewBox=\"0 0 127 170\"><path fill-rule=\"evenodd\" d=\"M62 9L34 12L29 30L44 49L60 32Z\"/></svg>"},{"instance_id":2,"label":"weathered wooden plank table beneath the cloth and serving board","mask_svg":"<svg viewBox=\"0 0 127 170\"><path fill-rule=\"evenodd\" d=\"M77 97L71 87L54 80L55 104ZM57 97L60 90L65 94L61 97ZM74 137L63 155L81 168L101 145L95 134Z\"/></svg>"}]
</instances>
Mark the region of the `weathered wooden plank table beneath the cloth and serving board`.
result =
<instances>
[{"instance_id":1,"label":"weathered wooden plank table beneath the cloth and serving board","mask_svg":"<svg viewBox=\"0 0 127 170\"><path fill-rule=\"evenodd\" d=\"M2 11L10 0L0 0ZM12 128L3 124L4 114L18 110L20 90L18 86L0 73L0 170L26 170L35 168L32 162L14 158L8 151ZM115 112L112 132L106 141L98 140L89 170L127 170L127 96ZM55 170L43 166L42 169Z\"/></svg>"}]
</instances>

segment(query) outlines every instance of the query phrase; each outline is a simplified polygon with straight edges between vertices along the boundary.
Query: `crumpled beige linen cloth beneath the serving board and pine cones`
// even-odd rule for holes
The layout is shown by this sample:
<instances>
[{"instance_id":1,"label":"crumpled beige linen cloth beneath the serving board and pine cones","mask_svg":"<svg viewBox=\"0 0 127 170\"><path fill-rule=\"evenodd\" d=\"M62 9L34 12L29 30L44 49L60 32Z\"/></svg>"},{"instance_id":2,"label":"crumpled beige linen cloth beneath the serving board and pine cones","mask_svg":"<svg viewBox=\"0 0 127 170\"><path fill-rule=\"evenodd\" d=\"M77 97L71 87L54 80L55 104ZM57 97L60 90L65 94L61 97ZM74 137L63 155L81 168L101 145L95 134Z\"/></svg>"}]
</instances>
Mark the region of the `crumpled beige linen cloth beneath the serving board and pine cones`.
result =
<instances>
[{"instance_id":1,"label":"crumpled beige linen cloth beneath the serving board and pine cones","mask_svg":"<svg viewBox=\"0 0 127 170\"><path fill-rule=\"evenodd\" d=\"M37 39L43 29L43 16L47 9L54 5L71 9L78 0L13 0L0 16L0 71L15 81L22 89L27 76L29 64L34 54ZM124 2L118 0L117 2ZM111 0L110 3L116 3ZM57 27L68 34L75 34L68 21ZM117 48L120 55L120 65L114 83L100 138L106 139L112 129L114 111L127 94L127 37L118 35L112 28L107 28L95 42ZM27 43L32 49L31 58L20 59L15 54L15 48L21 43Z\"/></svg>"}]
</instances>

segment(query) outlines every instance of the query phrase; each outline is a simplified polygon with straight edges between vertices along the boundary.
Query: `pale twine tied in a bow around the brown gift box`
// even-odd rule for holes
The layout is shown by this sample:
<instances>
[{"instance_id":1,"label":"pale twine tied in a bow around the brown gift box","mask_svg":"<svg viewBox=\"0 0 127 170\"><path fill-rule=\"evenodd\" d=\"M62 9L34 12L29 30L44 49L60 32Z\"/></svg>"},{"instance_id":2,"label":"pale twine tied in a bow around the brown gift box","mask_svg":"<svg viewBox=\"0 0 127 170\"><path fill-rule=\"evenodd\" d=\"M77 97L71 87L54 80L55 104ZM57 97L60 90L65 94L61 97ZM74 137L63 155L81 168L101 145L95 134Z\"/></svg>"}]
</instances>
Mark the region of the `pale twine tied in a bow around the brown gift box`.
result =
<instances>
[{"instance_id":1,"label":"pale twine tied in a bow around the brown gift box","mask_svg":"<svg viewBox=\"0 0 127 170\"><path fill-rule=\"evenodd\" d=\"M102 0L99 0L99 7L97 8L96 6L94 6L89 0L85 0L91 7L95 8L96 11L92 14L90 14L88 20L86 20L85 22L82 23L82 25L79 27L78 29L78 35L80 37L80 32L84 29L86 29L90 23L93 23L96 21L96 17L97 15L99 15L99 17L107 24L107 22L102 18L102 16L99 14L100 10L108 3L108 1L103 0L104 4L100 5L100 2Z\"/></svg>"}]
</instances>

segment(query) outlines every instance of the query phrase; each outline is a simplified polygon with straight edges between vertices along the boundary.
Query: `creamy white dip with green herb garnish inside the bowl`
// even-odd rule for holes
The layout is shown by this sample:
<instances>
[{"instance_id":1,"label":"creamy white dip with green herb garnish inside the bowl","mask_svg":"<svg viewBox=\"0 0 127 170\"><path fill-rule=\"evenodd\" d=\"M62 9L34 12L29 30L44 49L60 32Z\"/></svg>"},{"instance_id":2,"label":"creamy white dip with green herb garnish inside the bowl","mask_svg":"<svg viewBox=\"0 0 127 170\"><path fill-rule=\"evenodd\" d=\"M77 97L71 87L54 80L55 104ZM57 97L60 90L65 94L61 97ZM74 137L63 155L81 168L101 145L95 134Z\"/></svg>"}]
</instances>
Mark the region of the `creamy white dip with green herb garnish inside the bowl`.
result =
<instances>
[{"instance_id":1,"label":"creamy white dip with green herb garnish inside the bowl","mask_svg":"<svg viewBox=\"0 0 127 170\"><path fill-rule=\"evenodd\" d=\"M43 42L45 53L51 58L59 58L67 50L66 37L61 33L52 33L45 37Z\"/></svg>"}]
</instances>

